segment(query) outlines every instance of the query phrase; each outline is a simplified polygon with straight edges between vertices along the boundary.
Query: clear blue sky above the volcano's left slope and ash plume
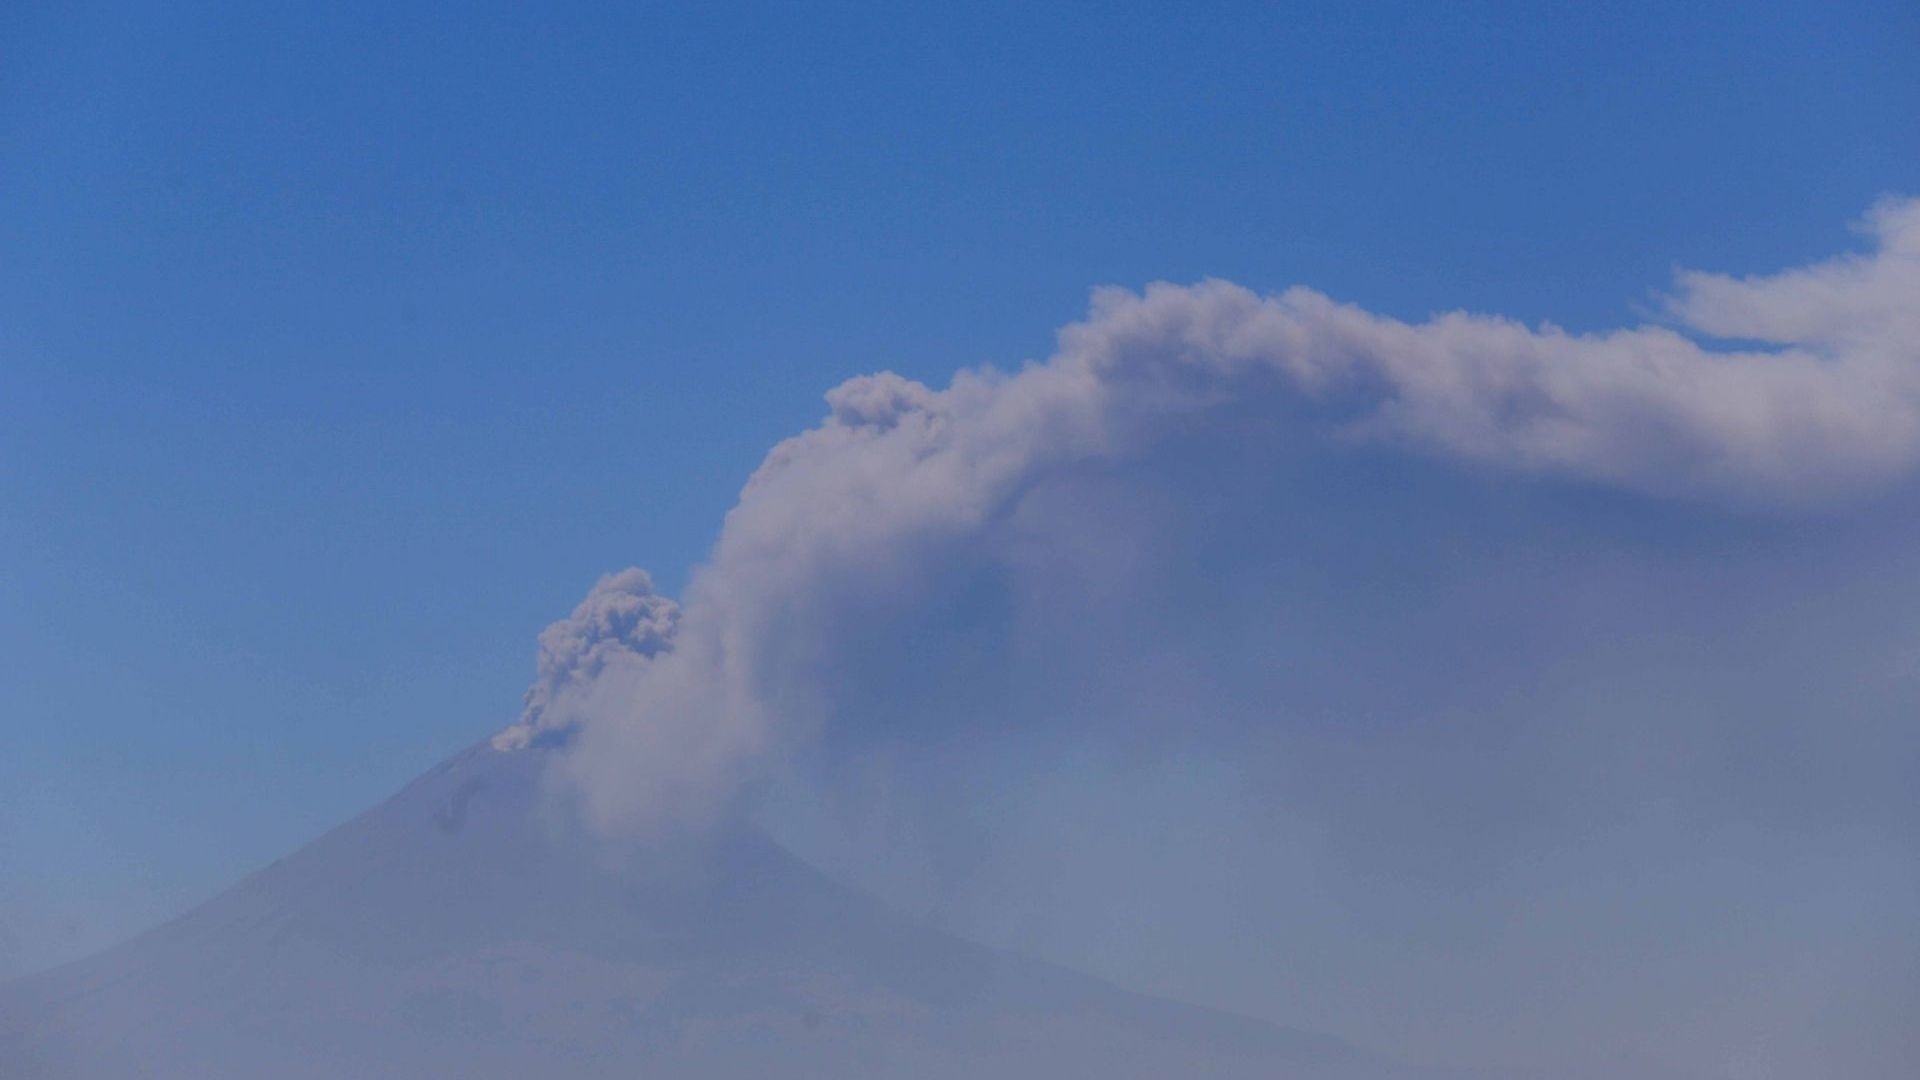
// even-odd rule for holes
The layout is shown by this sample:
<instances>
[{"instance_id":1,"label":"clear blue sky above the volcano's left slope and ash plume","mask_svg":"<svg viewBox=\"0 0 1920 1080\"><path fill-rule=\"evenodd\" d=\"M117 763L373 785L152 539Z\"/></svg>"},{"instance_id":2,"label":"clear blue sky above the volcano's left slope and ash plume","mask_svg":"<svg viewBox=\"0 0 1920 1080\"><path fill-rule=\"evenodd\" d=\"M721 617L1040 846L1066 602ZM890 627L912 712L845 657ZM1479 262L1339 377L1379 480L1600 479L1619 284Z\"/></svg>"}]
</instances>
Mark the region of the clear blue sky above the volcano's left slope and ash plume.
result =
<instances>
[{"instance_id":1,"label":"clear blue sky above the volcano's left slope and ash plume","mask_svg":"<svg viewBox=\"0 0 1920 1080\"><path fill-rule=\"evenodd\" d=\"M509 723L540 626L607 569L678 588L849 375L1206 275L1605 327L1920 190L1910 0L81 2L0 40L12 965Z\"/></svg>"}]
</instances>

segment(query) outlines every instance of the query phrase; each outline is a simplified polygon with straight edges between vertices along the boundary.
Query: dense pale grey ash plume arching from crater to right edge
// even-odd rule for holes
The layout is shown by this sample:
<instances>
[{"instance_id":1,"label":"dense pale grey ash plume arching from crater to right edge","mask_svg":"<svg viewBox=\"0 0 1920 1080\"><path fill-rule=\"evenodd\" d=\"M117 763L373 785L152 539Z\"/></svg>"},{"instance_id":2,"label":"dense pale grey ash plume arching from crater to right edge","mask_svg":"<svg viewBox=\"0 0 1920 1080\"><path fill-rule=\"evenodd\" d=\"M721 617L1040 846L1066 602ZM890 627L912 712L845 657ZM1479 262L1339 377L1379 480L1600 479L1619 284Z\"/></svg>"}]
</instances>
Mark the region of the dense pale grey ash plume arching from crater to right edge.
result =
<instances>
[{"instance_id":1,"label":"dense pale grey ash plume arching from crater to right edge","mask_svg":"<svg viewBox=\"0 0 1920 1080\"><path fill-rule=\"evenodd\" d=\"M1734 513L1870 494L1920 457L1920 202L1864 229L1860 256L1682 275L1665 327L1404 323L1206 281L1100 290L1018 371L852 379L768 454L684 609L628 571L541 636L503 744L574 732L561 773L609 828L699 824L835 723L828 673L876 611L996 559L987 538L1050 477L1152 461L1215 421Z\"/></svg>"}]
</instances>

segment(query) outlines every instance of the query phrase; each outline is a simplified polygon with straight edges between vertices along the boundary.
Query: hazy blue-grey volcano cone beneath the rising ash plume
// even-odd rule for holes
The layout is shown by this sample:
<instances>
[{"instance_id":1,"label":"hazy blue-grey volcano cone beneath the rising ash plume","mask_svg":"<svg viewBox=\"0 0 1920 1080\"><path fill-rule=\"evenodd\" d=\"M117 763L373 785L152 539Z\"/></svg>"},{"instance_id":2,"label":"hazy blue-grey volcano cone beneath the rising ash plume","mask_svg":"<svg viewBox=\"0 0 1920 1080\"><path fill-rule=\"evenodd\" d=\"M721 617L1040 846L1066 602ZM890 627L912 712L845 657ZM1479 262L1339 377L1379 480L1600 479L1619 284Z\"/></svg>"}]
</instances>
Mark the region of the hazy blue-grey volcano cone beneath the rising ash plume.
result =
<instances>
[{"instance_id":1,"label":"hazy blue-grey volcano cone beneath the rising ash plume","mask_svg":"<svg viewBox=\"0 0 1920 1080\"><path fill-rule=\"evenodd\" d=\"M1407 1072L887 909L741 826L614 855L467 749L205 905L0 988L10 1080Z\"/></svg>"}]
</instances>

